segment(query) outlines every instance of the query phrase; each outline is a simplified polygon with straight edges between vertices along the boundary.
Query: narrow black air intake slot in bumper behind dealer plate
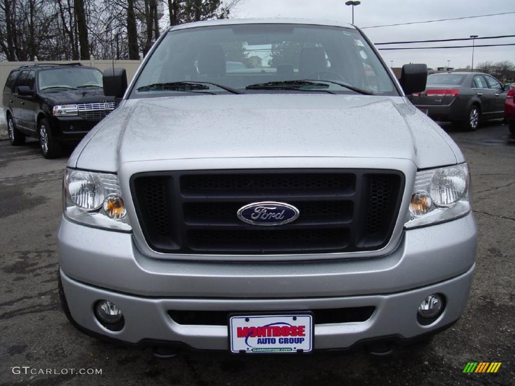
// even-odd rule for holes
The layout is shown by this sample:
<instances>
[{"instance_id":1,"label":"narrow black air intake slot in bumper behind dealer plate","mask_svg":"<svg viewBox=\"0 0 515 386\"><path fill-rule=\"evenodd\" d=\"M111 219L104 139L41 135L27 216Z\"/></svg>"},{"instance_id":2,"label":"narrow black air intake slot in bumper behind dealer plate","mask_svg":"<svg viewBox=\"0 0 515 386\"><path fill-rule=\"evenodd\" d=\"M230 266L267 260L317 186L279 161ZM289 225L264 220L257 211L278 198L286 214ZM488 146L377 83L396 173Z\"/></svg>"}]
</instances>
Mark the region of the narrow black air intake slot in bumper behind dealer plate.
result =
<instances>
[{"instance_id":1,"label":"narrow black air intake slot in bumper behind dealer plate","mask_svg":"<svg viewBox=\"0 0 515 386\"><path fill-rule=\"evenodd\" d=\"M374 313L375 307L346 307L346 308L323 308L308 310L313 314L315 324L331 324L331 323L356 323L365 322L370 319ZM267 311L267 313L285 313L287 311ZM297 313L302 311L296 310ZM170 318L183 325L205 325L205 326L227 326L229 315L253 315L256 311L177 311L169 310Z\"/></svg>"}]
</instances>

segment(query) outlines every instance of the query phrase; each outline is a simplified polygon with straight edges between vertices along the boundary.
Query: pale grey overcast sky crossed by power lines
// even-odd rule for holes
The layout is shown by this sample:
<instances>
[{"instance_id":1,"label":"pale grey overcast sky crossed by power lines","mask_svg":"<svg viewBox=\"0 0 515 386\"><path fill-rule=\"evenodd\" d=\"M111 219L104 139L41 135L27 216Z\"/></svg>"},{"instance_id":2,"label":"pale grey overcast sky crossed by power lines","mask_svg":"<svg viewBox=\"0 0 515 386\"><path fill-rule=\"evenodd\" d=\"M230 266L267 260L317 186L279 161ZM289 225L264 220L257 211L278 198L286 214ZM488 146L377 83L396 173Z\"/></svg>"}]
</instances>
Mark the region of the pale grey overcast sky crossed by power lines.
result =
<instances>
[{"instance_id":1,"label":"pale grey overcast sky crossed by power lines","mask_svg":"<svg viewBox=\"0 0 515 386\"><path fill-rule=\"evenodd\" d=\"M515 11L515 0L361 0L361 3L354 8L354 24L358 27ZM232 17L307 17L350 23L351 8L345 5L345 0L242 0ZM468 20L367 28L364 31L374 43L468 38L472 34L479 37L499 36L515 34L515 13ZM476 40L476 44L496 43L515 43L515 38ZM471 42L448 43L467 44ZM412 62L426 63L428 67L436 68L447 66L447 61L450 60L451 67L457 68L471 64L472 49L394 50L381 51L381 55L388 64L393 61L394 67ZM486 60L515 62L515 46L476 48L474 63Z\"/></svg>"}]
</instances>

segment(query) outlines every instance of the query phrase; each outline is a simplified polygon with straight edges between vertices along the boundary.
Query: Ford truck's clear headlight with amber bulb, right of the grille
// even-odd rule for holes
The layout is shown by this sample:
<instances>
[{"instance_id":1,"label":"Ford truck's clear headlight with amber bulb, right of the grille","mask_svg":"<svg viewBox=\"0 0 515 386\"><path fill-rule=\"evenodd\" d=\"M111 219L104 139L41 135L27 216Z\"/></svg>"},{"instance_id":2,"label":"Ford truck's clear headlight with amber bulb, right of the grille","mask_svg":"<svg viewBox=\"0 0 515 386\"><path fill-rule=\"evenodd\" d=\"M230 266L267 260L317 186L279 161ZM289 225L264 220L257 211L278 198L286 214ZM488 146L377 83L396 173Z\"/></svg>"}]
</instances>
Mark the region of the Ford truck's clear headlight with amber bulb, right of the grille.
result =
<instances>
[{"instance_id":1,"label":"Ford truck's clear headlight with amber bulb, right of the grille","mask_svg":"<svg viewBox=\"0 0 515 386\"><path fill-rule=\"evenodd\" d=\"M429 225L469 213L469 184L467 164L417 172L404 226Z\"/></svg>"}]
</instances>

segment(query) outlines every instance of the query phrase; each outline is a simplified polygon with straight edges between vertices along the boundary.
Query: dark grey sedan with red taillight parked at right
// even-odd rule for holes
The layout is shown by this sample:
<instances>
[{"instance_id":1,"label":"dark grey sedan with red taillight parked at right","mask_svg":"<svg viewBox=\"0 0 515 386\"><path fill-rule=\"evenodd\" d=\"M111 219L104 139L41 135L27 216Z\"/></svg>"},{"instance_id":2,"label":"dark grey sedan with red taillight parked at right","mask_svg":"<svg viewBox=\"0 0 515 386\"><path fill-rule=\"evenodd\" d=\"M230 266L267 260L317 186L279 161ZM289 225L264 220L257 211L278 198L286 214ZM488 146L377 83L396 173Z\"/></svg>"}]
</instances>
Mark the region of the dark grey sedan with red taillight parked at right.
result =
<instances>
[{"instance_id":1,"label":"dark grey sedan with red taillight parked at right","mask_svg":"<svg viewBox=\"0 0 515 386\"><path fill-rule=\"evenodd\" d=\"M439 73L427 77L424 92L411 102L434 120L451 121L476 130L482 120L504 117L507 89L493 76L483 73Z\"/></svg>"}]
</instances>

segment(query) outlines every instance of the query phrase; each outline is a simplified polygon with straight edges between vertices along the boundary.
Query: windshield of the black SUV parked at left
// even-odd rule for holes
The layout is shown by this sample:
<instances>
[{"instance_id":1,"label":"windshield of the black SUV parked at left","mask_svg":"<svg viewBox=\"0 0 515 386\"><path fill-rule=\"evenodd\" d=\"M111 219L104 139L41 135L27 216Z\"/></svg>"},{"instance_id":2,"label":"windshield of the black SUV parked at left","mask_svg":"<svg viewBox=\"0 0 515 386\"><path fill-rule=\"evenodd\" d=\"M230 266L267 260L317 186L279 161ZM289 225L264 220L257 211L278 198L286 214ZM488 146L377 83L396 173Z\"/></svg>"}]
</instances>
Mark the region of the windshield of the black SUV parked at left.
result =
<instances>
[{"instance_id":1,"label":"windshield of the black SUV parked at left","mask_svg":"<svg viewBox=\"0 0 515 386\"><path fill-rule=\"evenodd\" d=\"M82 89L102 87L102 73L96 68L52 68L39 71L40 90L45 89Z\"/></svg>"}]
</instances>

